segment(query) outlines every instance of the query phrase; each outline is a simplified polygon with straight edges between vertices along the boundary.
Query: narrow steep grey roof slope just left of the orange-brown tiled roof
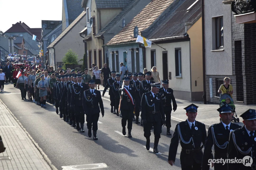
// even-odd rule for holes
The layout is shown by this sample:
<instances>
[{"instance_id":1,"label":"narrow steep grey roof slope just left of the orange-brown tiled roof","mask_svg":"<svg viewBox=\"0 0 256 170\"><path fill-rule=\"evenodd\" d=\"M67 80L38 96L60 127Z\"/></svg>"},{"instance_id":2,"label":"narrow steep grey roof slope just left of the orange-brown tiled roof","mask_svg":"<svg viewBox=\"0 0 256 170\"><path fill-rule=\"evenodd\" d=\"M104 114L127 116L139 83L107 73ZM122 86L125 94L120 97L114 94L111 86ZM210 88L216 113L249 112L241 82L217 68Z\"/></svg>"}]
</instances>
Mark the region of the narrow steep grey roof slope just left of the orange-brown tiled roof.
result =
<instances>
[{"instance_id":1,"label":"narrow steep grey roof slope just left of the orange-brown tiled roof","mask_svg":"<svg viewBox=\"0 0 256 170\"><path fill-rule=\"evenodd\" d=\"M140 1L140 0L131 0L131 2L129 4L127 4L123 10L111 21L108 23L108 25L106 25L105 28L103 28L100 32L98 32L98 34L95 36L101 36L102 34L104 34L106 31L108 31L110 28L113 27L113 25L118 22L121 18L123 18L123 16L129 12L132 7L137 4L137 2Z\"/></svg>"}]
</instances>

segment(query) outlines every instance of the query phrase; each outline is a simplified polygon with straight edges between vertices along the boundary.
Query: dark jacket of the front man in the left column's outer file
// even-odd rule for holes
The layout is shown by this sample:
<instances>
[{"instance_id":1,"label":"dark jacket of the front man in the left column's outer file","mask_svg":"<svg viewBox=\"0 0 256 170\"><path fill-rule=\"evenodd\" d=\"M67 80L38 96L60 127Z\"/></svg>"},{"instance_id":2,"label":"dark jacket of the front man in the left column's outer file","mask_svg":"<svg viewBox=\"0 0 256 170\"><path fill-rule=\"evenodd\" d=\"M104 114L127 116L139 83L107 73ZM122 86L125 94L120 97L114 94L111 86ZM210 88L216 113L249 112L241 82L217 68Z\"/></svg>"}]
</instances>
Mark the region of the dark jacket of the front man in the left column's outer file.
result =
<instances>
[{"instance_id":1,"label":"dark jacket of the front man in the left column's outer file","mask_svg":"<svg viewBox=\"0 0 256 170\"><path fill-rule=\"evenodd\" d=\"M83 92L88 89L88 85L85 83L81 83L81 87L78 83L72 85L70 107L83 106Z\"/></svg>"}]
</instances>

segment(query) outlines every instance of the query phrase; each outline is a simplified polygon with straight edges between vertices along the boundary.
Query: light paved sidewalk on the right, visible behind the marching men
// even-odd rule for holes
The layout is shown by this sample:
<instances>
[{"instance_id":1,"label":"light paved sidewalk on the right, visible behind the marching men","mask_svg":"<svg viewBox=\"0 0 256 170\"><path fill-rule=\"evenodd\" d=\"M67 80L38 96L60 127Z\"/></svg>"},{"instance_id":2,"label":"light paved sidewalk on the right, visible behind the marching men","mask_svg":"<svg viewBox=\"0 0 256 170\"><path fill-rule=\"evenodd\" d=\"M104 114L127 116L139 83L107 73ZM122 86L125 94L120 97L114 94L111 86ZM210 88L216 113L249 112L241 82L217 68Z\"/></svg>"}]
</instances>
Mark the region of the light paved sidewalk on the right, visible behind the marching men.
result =
<instances>
[{"instance_id":1,"label":"light paved sidewalk on the right, visible behind the marching men","mask_svg":"<svg viewBox=\"0 0 256 170\"><path fill-rule=\"evenodd\" d=\"M100 85L99 90L101 91L101 95L102 95L104 87ZM104 98L110 99L108 93L109 92L107 90L104 95ZM172 111L172 114L171 114L172 119L176 119L178 121L186 120L187 116L183 108L187 107L191 103L194 103L198 106L196 120L204 123L206 125L206 128L208 128L212 124L220 122L219 112L217 111L217 109L219 108L219 104L204 104L203 101L190 102L190 101L181 100L181 99L176 99L176 103L178 107L175 112ZM238 124L243 126L242 119L239 116L248 109L256 109L256 104L252 104L252 105L236 104L235 106L236 106L237 118L239 118L240 120ZM108 107L108 106L105 106L105 107Z\"/></svg>"}]
</instances>

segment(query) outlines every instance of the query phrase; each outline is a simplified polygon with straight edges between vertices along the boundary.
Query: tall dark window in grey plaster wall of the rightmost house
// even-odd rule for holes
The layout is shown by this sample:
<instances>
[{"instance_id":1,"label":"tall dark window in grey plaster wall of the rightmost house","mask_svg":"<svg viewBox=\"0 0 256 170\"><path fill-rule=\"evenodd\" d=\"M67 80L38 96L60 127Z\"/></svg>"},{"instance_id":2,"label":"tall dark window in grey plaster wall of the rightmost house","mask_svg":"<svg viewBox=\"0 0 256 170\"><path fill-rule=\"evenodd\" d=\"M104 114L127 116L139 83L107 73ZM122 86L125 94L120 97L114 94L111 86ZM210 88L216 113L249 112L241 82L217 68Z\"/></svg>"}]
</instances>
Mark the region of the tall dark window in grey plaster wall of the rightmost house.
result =
<instances>
[{"instance_id":1,"label":"tall dark window in grey plaster wall of the rightmost house","mask_svg":"<svg viewBox=\"0 0 256 170\"><path fill-rule=\"evenodd\" d=\"M216 49L224 48L223 17L215 18Z\"/></svg>"}]
</instances>

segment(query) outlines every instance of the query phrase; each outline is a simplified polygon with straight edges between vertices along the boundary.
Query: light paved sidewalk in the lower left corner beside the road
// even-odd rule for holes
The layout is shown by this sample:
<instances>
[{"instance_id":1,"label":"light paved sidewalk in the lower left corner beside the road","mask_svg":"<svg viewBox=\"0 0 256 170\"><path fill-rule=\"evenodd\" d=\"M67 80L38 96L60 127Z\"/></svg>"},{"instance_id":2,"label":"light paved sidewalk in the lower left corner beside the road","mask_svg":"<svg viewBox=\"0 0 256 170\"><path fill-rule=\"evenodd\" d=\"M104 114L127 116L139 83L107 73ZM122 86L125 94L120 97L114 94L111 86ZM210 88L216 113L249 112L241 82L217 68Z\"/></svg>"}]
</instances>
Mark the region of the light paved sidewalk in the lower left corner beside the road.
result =
<instances>
[{"instance_id":1,"label":"light paved sidewalk in the lower left corner beside the road","mask_svg":"<svg viewBox=\"0 0 256 170\"><path fill-rule=\"evenodd\" d=\"M33 139L1 100L0 135L6 147L5 152L0 153L0 169L52 169L46 162L48 160L50 163L47 156L36 147L36 143L34 145ZM6 158L11 160L5 160Z\"/></svg>"}]
</instances>

